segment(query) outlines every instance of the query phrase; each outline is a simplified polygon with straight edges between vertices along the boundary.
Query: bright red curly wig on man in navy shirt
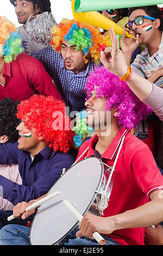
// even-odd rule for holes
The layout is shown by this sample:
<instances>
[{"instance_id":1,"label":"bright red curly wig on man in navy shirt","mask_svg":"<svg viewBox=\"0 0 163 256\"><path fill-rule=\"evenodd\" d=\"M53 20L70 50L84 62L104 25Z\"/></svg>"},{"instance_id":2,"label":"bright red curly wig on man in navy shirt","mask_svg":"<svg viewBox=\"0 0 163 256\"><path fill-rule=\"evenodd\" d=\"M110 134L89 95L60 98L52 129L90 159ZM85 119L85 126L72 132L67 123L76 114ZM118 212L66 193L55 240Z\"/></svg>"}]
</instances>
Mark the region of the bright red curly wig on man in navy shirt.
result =
<instances>
[{"instance_id":1,"label":"bright red curly wig on man in navy shirt","mask_svg":"<svg viewBox=\"0 0 163 256\"><path fill-rule=\"evenodd\" d=\"M73 143L74 133L70 129L70 118L65 114L65 103L52 96L33 95L18 105L17 118L24 120L30 130L36 130L35 137L43 136L54 151L67 152Z\"/></svg>"}]
</instances>

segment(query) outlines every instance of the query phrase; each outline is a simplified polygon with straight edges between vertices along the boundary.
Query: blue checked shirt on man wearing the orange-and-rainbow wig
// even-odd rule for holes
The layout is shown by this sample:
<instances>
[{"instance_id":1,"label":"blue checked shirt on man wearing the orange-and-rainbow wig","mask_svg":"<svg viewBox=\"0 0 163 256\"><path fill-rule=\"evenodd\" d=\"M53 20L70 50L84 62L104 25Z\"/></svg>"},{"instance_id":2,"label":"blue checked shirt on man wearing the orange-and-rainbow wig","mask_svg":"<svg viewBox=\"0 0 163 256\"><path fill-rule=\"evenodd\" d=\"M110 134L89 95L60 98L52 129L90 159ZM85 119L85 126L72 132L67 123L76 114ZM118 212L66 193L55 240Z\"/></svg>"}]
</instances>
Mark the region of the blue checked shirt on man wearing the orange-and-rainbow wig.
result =
<instances>
[{"instance_id":1,"label":"blue checked shirt on man wearing the orange-and-rainbow wig","mask_svg":"<svg viewBox=\"0 0 163 256\"><path fill-rule=\"evenodd\" d=\"M53 50L52 47L43 48L35 51L31 56L39 59L45 66L48 74L53 78L55 86L62 96L69 111L81 111L85 108L84 87L87 75L95 68L95 63L89 60L87 69L74 74L72 70L65 68L64 59L61 54Z\"/></svg>"}]
</instances>

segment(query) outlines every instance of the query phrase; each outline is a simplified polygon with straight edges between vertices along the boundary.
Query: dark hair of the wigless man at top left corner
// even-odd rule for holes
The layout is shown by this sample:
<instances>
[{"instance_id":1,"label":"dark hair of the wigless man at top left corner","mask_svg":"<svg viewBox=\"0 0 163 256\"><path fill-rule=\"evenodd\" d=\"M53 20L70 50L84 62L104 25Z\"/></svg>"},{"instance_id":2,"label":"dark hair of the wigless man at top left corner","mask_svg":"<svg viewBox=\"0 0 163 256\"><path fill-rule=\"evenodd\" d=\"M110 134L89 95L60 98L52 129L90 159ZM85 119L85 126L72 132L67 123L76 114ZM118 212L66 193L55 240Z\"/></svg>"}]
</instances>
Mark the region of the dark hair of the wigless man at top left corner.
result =
<instances>
[{"instance_id":1,"label":"dark hair of the wigless man at top left corner","mask_svg":"<svg viewBox=\"0 0 163 256\"><path fill-rule=\"evenodd\" d=\"M51 13L51 2L49 0L26 0L26 1L33 2L34 7L37 4L37 8L40 8L39 14L44 13L45 11L48 11L49 13ZM10 2L11 4L14 5L15 0L10 0Z\"/></svg>"}]
</instances>

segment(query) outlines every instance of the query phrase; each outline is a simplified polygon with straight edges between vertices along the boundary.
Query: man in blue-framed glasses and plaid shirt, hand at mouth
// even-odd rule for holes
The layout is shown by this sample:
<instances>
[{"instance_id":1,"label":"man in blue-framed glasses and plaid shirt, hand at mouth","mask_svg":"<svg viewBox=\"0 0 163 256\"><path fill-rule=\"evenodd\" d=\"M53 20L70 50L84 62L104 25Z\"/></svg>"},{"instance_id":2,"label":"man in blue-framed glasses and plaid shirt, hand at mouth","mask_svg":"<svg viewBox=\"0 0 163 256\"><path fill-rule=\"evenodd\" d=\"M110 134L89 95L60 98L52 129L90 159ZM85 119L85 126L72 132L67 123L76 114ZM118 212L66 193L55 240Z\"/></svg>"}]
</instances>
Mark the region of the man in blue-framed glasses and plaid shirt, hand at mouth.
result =
<instances>
[{"instance_id":1,"label":"man in blue-framed glasses and plaid shirt, hand at mouth","mask_svg":"<svg viewBox=\"0 0 163 256\"><path fill-rule=\"evenodd\" d=\"M129 22L126 30L134 39L127 38L124 34L121 39L121 50L126 63L139 44L146 45L145 51L139 54L131 64L132 69L142 77L163 87L163 23L161 12L156 5L135 7L129 10Z\"/></svg>"}]
</instances>

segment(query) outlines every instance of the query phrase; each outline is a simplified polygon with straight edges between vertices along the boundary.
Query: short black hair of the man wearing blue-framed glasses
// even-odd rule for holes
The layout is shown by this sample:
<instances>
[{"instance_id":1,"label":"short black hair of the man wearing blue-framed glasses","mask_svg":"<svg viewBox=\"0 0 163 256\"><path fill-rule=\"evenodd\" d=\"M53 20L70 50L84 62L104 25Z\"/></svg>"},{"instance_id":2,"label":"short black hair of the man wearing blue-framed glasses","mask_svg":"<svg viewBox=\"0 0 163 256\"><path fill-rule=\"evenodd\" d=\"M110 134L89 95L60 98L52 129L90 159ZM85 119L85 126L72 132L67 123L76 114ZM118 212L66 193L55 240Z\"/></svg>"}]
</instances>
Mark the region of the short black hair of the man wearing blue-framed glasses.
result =
<instances>
[{"instance_id":1,"label":"short black hair of the man wearing blue-framed glasses","mask_svg":"<svg viewBox=\"0 0 163 256\"><path fill-rule=\"evenodd\" d=\"M137 9L144 10L147 15L149 15L149 16L155 18L155 19L159 19L160 20L159 30L163 31L162 15L161 15L161 11L160 11L160 9L157 5L132 7L132 8L129 9L128 17L131 15L131 13L133 13L133 11L135 11Z\"/></svg>"}]
</instances>

